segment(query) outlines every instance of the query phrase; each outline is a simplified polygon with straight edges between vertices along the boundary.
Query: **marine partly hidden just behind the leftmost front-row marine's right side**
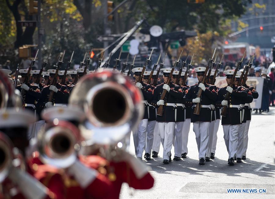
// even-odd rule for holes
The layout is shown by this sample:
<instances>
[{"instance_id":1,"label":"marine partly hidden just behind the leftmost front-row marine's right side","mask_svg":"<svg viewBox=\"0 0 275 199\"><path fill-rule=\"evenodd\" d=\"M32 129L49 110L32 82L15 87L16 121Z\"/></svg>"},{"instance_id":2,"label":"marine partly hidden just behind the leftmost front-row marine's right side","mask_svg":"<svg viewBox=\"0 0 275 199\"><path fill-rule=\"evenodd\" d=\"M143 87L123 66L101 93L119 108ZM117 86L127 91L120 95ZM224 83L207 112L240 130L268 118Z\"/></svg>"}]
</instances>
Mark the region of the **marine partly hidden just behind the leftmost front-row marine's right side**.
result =
<instances>
[{"instance_id":1,"label":"marine partly hidden just behind the leftmost front-row marine's right side","mask_svg":"<svg viewBox=\"0 0 275 199\"><path fill-rule=\"evenodd\" d=\"M156 71L154 71L155 73ZM149 79L150 76L149 71L145 71L142 81L144 83L151 83L152 81ZM153 78L151 78L153 79ZM154 90L156 87L152 86L151 84L149 84L151 90ZM152 146L153 146L153 140L154 140L154 129L156 126L156 108L155 106L150 104L149 101L149 117L148 117L148 123L147 123L147 127L146 127L146 142L145 142L145 155L144 158L145 160L151 160L151 151L152 151Z\"/></svg>"}]
</instances>

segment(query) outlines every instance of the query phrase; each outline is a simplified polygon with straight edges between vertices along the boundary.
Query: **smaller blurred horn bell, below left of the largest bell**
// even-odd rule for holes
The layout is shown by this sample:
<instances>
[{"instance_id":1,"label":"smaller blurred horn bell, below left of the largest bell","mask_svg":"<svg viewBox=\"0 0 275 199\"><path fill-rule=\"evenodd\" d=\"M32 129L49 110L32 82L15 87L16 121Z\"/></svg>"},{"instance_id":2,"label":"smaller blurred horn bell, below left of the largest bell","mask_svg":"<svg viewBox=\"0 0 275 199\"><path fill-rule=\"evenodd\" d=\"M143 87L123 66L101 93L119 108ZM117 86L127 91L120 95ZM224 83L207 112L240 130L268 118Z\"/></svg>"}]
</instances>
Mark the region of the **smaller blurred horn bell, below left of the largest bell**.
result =
<instances>
[{"instance_id":1,"label":"smaller blurred horn bell, below left of the largest bell","mask_svg":"<svg viewBox=\"0 0 275 199\"><path fill-rule=\"evenodd\" d=\"M67 168L77 159L80 141L80 133L75 125L55 119L38 134L39 157L45 164Z\"/></svg>"}]
</instances>

